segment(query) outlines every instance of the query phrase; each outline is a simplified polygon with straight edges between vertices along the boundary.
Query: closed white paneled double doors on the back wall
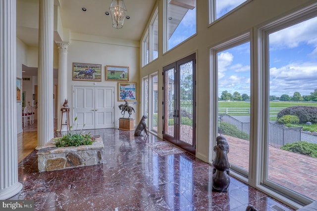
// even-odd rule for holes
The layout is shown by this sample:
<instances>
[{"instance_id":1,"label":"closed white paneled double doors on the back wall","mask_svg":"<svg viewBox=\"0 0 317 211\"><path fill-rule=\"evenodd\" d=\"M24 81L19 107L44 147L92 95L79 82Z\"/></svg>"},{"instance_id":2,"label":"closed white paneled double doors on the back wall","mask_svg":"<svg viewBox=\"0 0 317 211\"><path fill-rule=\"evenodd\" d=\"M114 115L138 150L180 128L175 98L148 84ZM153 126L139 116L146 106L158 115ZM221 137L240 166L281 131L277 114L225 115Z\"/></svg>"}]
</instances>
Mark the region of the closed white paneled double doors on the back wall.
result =
<instances>
[{"instance_id":1,"label":"closed white paneled double doors on the back wall","mask_svg":"<svg viewBox=\"0 0 317 211\"><path fill-rule=\"evenodd\" d=\"M74 122L75 117L77 120ZM73 129L114 127L114 87L73 86Z\"/></svg>"}]
</instances>

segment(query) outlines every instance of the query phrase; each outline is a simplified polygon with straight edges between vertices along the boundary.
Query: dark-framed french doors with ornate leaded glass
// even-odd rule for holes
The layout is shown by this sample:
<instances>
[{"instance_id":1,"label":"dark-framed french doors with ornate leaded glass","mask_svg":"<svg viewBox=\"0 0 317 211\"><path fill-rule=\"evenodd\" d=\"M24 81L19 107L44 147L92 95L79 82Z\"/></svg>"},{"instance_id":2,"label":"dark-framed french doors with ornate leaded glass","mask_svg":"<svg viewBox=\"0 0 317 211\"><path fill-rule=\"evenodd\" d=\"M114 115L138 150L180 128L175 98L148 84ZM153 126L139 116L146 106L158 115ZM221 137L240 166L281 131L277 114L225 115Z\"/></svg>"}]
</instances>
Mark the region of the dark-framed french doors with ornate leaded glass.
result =
<instances>
[{"instance_id":1,"label":"dark-framed french doors with ornate leaded glass","mask_svg":"<svg viewBox=\"0 0 317 211\"><path fill-rule=\"evenodd\" d=\"M196 153L196 54L163 68L163 139Z\"/></svg>"}]
</instances>

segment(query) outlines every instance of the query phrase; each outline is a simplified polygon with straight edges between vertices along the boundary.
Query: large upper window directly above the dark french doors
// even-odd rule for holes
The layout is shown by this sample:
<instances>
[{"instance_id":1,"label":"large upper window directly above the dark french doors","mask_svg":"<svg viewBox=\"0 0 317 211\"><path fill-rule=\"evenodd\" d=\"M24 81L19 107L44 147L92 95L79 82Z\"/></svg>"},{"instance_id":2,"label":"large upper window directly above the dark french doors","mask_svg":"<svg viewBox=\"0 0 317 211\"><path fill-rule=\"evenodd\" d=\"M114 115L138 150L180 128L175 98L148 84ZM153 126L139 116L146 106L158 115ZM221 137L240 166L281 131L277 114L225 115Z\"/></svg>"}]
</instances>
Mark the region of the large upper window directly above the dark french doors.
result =
<instances>
[{"instance_id":1,"label":"large upper window directly above the dark french doors","mask_svg":"<svg viewBox=\"0 0 317 211\"><path fill-rule=\"evenodd\" d=\"M196 34L196 0L165 0L164 52Z\"/></svg>"}]
</instances>

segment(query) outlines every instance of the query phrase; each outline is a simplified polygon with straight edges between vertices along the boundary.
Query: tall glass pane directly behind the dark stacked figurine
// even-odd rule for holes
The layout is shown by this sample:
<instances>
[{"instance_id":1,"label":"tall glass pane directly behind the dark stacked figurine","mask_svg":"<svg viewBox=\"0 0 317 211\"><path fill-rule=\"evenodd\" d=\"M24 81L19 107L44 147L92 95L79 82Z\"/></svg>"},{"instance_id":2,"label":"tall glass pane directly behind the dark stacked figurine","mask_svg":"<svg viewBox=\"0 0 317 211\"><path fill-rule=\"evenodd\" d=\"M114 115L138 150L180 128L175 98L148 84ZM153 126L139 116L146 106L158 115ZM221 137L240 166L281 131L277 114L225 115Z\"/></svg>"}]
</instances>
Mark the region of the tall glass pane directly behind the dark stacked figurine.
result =
<instances>
[{"instance_id":1,"label":"tall glass pane directly behind the dark stacked figurine","mask_svg":"<svg viewBox=\"0 0 317 211\"><path fill-rule=\"evenodd\" d=\"M229 143L231 168L247 172L250 145L250 42L218 52L217 66L218 135L223 135Z\"/></svg>"}]
</instances>

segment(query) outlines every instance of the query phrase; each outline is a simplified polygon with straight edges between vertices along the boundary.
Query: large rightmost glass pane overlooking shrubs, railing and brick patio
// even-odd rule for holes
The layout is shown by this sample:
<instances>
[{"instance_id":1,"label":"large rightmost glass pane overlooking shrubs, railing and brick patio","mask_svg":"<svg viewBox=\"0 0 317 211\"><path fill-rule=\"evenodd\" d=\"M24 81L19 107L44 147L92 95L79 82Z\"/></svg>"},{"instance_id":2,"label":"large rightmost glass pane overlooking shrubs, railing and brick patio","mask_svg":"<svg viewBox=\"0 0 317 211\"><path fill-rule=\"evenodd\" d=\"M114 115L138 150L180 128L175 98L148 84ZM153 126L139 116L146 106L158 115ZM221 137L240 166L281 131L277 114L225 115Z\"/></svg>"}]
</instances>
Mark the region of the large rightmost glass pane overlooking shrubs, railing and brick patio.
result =
<instances>
[{"instance_id":1,"label":"large rightmost glass pane overlooking shrubs, railing and brick patio","mask_svg":"<svg viewBox=\"0 0 317 211\"><path fill-rule=\"evenodd\" d=\"M317 200L317 17L269 34L267 179Z\"/></svg>"}]
</instances>

